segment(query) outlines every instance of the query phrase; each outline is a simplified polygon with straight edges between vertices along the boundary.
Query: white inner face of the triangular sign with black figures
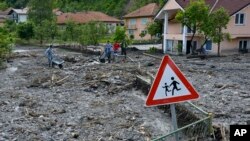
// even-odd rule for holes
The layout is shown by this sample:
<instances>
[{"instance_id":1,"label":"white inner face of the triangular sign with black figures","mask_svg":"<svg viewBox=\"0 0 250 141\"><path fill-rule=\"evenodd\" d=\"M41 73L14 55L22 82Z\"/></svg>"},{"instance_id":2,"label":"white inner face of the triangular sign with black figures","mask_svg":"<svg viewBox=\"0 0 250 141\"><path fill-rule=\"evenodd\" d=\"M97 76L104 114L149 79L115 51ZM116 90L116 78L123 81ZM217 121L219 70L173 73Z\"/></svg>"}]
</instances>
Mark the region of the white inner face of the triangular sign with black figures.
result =
<instances>
[{"instance_id":1,"label":"white inner face of the triangular sign with black figures","mask_svg":"<svg viewBox=\"0 0 250 141\"><path fill-rule=\"evenodd\" d=\"M184 95L190 95L190 91L187 90L172 68L167 65L153 100L179 97Z\"/></svg>"}]
</instances>

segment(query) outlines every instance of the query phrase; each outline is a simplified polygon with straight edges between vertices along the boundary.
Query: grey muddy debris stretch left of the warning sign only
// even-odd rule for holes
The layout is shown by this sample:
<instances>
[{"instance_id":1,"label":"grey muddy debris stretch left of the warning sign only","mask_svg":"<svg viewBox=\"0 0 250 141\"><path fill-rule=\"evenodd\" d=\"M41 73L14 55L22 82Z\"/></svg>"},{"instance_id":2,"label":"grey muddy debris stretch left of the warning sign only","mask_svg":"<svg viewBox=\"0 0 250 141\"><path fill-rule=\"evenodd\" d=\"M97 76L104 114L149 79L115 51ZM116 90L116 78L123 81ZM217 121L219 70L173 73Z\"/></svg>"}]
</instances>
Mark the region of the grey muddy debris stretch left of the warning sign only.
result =
<instances>
[{"instance_id":1,"label":"grey muddy debris stretch left of the warning sign only","mask_svg":"<svg viewBox=\"0 0 250 141\"><path fill-rule=\"evenodd\" d=\"M47 66L44 49L30 49L0 71L0 140L143 141L170 131L169 115L145 108L134 88L138 64L56 53L63 70Z\"/></svg>"}]
</instances>

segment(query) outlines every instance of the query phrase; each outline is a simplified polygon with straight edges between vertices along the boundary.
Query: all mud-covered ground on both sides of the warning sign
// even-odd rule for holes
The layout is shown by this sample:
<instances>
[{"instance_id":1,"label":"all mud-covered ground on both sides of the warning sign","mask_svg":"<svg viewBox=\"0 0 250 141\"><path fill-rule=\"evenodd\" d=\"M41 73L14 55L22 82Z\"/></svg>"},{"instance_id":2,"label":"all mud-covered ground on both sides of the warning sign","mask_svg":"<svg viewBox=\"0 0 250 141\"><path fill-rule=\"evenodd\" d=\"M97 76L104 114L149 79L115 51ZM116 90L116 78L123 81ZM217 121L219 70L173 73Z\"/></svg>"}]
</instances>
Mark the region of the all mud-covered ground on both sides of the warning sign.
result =
<instances>
[{"instance_id":1,"label":"all mud-covered ground on both sides of the warning sign","mask_svg":"<svg viewBox=\"0 0 250 141\"><path fill-rule=\"evenodd\" d=\"M62 70L49 68L44 49L36 48L19 48L0 70L0 140L146 141L170 131L169 114L146 108L135 88L138 70L155 74L159 59L130 51L133 61L100 64L96 55L56 53L65 60ZM249 124L250 54L172 59L215 124Z\"/></svg>"}]
</instances>

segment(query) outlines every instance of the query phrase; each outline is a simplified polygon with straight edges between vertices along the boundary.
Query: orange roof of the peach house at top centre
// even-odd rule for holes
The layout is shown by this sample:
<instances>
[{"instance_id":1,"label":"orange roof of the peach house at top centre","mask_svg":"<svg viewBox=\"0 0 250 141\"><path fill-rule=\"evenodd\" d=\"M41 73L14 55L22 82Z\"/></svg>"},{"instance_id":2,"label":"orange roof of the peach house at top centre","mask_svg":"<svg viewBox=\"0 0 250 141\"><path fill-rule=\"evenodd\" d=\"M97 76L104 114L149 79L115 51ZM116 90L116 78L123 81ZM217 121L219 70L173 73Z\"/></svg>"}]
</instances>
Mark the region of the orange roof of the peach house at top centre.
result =
<instances>
[{"instance_id":1,"label":"orange roof of the peach house at top centre","mask_svg":"<svg viewBox=\"0 0 250 141\"><path fill-rule=\"evenodd\" d=\"M159 10L159 6L156 3L150 3L144 7L141 7L127 15L124 18L135 17L154 17Z\"/></svg>"}]
</instances>

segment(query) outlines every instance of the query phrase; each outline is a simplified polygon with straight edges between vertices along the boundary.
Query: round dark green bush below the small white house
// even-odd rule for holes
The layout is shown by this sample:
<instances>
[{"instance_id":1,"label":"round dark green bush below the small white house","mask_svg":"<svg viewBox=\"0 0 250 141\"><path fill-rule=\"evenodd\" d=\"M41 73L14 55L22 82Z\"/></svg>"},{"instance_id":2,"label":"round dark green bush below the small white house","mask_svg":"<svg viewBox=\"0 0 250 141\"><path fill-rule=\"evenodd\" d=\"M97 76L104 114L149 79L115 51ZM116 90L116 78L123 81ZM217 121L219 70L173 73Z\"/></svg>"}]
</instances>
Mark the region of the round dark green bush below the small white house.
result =
<instances>
[{"instance_id":1,"label":"round dark green bush below the small white house","mask_svg":"<svg viewBox=\"0 0 250 141\"><path fill-rule=\"evenodd\" d=\"M17 26L17 35L21 39L29 40L34 35L34 25L30 22L20 23Z\"/></svg>"}]
</instances>

